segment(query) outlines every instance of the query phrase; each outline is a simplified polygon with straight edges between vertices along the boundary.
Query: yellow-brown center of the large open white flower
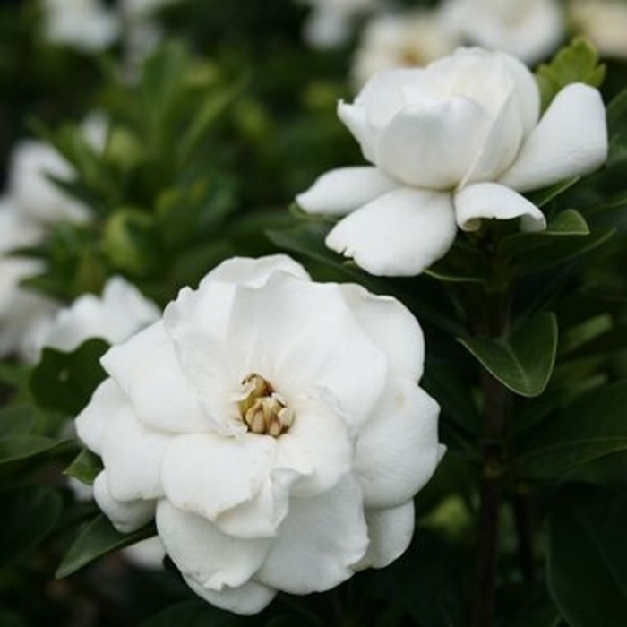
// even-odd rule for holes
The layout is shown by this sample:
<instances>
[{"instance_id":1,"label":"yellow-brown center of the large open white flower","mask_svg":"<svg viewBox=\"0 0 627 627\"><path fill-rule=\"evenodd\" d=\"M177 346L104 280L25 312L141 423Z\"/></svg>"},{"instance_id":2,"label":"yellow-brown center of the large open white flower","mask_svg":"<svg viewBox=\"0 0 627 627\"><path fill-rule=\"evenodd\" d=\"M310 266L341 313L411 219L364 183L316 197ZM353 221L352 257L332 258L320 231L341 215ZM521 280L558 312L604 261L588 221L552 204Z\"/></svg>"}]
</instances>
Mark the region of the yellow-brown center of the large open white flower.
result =
<instances>
[{"instance_id":1,"label":"yellow-brown center of the large open white flower","mask_svg":"<svg viewBox=\"0 0 627 627\"><path fill-rule=\"evenodd\" d=\"M261 374L253 373L245 377L237 397L237 408L253 434L278 438L294 422L294 412L288 407L286 399Z\"/></svg>"}]
</instances>

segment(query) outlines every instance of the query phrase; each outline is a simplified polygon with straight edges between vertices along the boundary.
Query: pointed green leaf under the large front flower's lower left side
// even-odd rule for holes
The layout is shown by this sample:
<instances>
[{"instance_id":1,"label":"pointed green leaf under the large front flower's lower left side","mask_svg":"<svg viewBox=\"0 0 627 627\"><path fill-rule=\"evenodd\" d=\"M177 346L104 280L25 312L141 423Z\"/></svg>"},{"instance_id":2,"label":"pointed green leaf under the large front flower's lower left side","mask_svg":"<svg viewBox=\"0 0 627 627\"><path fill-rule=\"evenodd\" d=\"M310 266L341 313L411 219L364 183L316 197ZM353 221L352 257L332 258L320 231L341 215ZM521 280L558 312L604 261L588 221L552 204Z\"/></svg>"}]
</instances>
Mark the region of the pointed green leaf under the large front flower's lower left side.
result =
<instances>
[{"instance_id":1,"label":"pointed green leaf under the large front flower's lower left side","mask_svg":"<svg viewBox=\"0 0 627 627\"><path fill-rule=\"evenodd\" d=\"M65 554L55 576L57 579L67 577L99 557L156 534L157 531L152 523L133 533L120 533L104 514L99 514L82 529L79 537Z\"/></svg>"}]
</instances>

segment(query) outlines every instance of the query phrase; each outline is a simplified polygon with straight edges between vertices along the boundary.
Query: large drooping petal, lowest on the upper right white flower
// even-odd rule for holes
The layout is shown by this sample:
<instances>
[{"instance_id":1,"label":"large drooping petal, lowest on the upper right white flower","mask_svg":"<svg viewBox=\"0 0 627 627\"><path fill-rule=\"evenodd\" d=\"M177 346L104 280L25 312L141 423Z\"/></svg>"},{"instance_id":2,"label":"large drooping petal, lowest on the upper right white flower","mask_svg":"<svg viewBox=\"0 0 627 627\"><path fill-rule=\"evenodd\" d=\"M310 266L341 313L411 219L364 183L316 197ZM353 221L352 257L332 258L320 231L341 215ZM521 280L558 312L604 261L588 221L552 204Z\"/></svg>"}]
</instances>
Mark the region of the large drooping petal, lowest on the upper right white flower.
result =
<instances>
[{"instance_id":1,"label":"large drooping petal, lowest on the upper right white flower","mask_svg":"<svg viewBox=\"0 0 627 627\"><path fill-rule=\"evenodd\" d=\"M326 245L371 274L412 276L443 257L456 233L451 194L401 187L340 220Z\"/></svg>"}]
</instances>

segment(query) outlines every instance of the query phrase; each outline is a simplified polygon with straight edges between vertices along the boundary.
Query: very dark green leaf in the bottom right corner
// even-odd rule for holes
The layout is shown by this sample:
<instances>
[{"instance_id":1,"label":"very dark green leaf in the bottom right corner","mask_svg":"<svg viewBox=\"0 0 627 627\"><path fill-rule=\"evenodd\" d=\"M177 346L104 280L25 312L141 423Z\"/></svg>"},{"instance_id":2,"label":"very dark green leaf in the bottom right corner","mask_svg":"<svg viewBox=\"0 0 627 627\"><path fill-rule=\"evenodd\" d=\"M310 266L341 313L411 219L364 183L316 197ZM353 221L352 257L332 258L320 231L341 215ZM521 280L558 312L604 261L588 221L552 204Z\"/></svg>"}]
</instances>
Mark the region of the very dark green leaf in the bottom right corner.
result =
<instances>
[{"instance_id":1,"label":"very dark green leaf in the bottom right corner","mask_svg":"<svg viewBox=\"0 0 627 627\"><path fill-rule=\"evenodd\" d=\"M547 579L571 627L627 621L627 495L566 485L549 518Z\"/></svg>"}]
</instances>

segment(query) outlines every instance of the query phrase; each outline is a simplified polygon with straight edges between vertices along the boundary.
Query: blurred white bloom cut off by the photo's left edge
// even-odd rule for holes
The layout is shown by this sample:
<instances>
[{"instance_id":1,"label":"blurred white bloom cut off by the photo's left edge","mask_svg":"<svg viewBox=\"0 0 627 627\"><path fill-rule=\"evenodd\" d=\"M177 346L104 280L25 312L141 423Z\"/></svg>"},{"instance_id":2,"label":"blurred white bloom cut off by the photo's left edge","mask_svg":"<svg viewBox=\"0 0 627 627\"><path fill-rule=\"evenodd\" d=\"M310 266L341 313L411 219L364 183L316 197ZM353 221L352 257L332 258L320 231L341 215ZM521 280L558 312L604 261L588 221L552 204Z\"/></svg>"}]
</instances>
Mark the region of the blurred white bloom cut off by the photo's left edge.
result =
<instances>
[{"instance_id":1,"label":"blurred white bloom cut off by the photo's left edge","mask_svg":"<svg viewBox=\"0 0 627 627\"><path fill-rule=\"evenodd\" d=\"M0 199L0 356L34 357L34 343L44 332L58 305L47 296L21 287L21 281L39 274L42 262L14 255L36 245L41 228L23 216L10 199Z\"/></svg>"}]
</instances>

